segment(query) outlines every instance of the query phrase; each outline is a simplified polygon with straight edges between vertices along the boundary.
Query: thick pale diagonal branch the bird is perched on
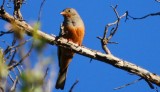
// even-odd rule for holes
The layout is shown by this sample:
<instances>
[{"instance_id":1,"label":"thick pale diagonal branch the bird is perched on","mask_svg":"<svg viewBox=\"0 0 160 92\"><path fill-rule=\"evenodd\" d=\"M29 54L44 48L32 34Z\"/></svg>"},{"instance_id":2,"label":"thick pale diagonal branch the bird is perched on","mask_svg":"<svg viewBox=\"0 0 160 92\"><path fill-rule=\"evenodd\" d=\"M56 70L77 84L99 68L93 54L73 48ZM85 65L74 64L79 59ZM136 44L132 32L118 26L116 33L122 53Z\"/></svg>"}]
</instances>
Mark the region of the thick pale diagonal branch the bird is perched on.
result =
<instances>
[{"instance_id":1,"label":"thick pale diagonal branch the bird is perched on","mask_svg":"<svg viewBox=\"0 0 160 92\"><path fill-rule=\"evenodd\" d=\"M0 10L0 17L3 20L12 24L14 27L16 27L16 29L23 29L23 31L25 31L25 33L28 34L29 36L33 36L33 34L36 33L38 39L43 39L48 44L57 45L57 46L67 48L67 49L72 49L74 52L80 55L99 60L101 62L110 64L116 68L136 74L160 86L160 76L155 73L151 73L148 70L141 68L140 66L137 66L133 63L122 60L111 54L104 54L99 51L95 51L95 50L92 50L86 47L78 46L77 44L74 44L73 42L70 42L66 39L63 39L63 38L57 39L56 36L51 36L40 30L34 30L34 28L32 28L29 24L27 24L24 21L19 21L19 20L14 19L13 16L9 15L3 9ZM22 31L22 30L19 30L19 31Z\"/></svg>"}]
</instances>

